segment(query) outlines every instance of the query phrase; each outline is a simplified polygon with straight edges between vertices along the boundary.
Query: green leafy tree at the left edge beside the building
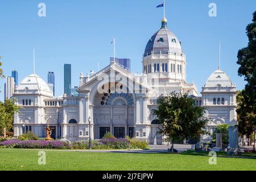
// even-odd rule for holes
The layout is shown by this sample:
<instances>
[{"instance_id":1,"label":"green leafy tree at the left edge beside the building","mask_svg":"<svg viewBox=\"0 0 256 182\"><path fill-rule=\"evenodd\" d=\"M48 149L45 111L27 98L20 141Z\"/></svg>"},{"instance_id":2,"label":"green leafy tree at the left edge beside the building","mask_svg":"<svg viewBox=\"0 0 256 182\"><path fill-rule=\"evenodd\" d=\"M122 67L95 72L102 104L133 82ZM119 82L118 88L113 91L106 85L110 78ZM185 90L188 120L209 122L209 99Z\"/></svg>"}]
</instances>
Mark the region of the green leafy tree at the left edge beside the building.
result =
<instances>
[{"instance_id":1,"label":"green leafy tree at the left edge beside the building","mask_svg":"<svg viewBox=\"0 0 256 182\"><path fill-rule=\"evenodd\" d=\"M13 129L14 114L20 109L20 106L15 105L15 101L15 98L11 98L0 102L0 130L4 138L6 138L6 131Z\"/></svg>"}]
</instances>

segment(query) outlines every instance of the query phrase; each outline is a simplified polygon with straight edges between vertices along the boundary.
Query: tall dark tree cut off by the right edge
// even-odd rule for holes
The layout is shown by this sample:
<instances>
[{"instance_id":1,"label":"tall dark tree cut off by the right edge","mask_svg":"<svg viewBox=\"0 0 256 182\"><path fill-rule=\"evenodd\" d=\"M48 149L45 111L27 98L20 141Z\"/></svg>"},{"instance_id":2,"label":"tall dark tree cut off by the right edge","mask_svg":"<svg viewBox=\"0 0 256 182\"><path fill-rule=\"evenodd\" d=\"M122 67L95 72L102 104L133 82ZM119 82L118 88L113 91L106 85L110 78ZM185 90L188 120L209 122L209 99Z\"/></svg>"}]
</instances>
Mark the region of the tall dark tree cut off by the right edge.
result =
<instances>
[{"instance_id":1,"label":"tall dark tree cut off by the right edge","mask_svg":"<svg viewBox=\"0 0 256 182\"><path fill-rule=\"evenodd\" d=\"M256 11L253 23L246 27L248 46L238 51L238 75L245 77L247 84L238 96L238 121L240 133L249 136L256 126Z\"/></svg>"}]
</instances>

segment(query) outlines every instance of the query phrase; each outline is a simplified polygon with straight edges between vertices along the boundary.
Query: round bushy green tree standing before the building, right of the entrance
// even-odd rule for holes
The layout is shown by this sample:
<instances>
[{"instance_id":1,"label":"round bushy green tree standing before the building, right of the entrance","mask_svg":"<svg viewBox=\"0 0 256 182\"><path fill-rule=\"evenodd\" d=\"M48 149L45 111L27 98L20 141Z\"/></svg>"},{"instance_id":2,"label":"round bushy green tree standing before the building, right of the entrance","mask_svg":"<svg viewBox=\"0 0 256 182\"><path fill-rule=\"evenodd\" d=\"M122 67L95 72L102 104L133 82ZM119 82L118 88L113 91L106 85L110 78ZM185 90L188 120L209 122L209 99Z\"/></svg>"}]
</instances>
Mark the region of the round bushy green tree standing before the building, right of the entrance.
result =
<instances>
[{"instance_id":1,"label":"round bushy green tree standing before the building, right of the entrance","mask_svg":"<svg viewBox=\"0 0 256 182\"><path fill-rule=\"evenodd\" d=\"M209 122L204 117L205 108L196 106L195 100L188 94L172 92L157 101L158 108L152 110L160 122L159 133L171 142L174 149L174 140L199 139L201 134L207 134L205 125Z\"/></svg>"}]
</instances>

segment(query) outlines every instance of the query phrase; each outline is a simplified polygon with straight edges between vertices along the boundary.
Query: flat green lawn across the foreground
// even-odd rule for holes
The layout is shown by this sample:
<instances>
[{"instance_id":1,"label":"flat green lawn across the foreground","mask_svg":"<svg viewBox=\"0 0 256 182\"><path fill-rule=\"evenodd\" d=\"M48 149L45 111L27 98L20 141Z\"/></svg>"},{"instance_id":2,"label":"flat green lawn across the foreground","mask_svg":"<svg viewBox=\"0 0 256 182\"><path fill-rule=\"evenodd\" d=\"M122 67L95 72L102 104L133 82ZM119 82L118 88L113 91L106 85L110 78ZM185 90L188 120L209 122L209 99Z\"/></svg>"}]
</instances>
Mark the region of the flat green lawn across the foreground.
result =
<instances>
[{"instance_id":1,"label":"flat green lawn across the foreground","mask_svg":"<svg viewBox=\"0 0 256 182\"><path fill-rule=\"evenodd\" d=\"M46 165L38 151L0 149L0 170L256 170L256 159L217 158L189 154L120 154L46 150Z\"/></svg>"}]
</instances>

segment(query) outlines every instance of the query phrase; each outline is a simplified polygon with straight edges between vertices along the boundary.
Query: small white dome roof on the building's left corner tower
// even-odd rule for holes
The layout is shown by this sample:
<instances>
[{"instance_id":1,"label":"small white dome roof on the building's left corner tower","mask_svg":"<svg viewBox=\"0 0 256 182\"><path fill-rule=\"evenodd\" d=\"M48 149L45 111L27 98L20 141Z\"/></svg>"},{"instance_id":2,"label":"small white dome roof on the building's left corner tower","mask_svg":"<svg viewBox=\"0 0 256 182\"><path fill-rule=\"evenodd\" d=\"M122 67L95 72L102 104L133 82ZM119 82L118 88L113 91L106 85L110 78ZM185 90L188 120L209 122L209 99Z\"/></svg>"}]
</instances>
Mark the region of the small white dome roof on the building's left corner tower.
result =
<instances>
[{"instance_id":1,"label":"small white dome roof on the building's left corner tower","mask_svg":"<svg viewBox=\"0 0 256 182\"><path fill-rule=\"evenodd\" d=\"M52 92L47 83L36 74L24 78L22 82L20 82L18 90L41 90L49 93Z\"/></svg>"}]
</instances>

